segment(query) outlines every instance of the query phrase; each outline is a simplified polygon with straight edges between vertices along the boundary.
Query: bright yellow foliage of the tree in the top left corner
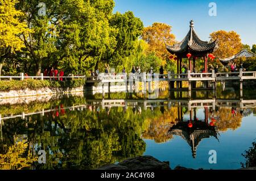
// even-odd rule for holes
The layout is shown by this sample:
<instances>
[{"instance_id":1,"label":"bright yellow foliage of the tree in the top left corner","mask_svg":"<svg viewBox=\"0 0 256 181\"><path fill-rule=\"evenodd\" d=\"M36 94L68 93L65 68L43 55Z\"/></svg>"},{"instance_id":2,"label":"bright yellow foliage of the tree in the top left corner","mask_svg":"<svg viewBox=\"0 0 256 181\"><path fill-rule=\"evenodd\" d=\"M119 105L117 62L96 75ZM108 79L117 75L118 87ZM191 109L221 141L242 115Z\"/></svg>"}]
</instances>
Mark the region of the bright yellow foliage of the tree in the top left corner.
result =
<instances>
[{"instance_id":1,"label":"bright yellow foliage of the tree in the top left corner","mask_svg":"<svg viewBox=\"0 0 256 181\"><path fill-rule=\"evenodd\" d=\"M26 23L19 20L24 14L15 9L13 0L0 0L0 76L5 58L24 47L20 35L27 38L31 32Z\"/></svg>"}]
</instances>

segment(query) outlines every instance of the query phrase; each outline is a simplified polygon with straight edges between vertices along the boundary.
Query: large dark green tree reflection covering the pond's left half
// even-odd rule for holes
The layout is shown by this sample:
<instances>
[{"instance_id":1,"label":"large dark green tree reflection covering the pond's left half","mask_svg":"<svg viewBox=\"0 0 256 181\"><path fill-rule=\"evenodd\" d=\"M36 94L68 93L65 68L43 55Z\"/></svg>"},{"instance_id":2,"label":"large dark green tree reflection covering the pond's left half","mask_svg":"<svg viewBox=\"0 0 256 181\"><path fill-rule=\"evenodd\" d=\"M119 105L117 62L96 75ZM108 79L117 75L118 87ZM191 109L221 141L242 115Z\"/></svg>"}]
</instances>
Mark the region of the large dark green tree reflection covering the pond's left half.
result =
<instances>
[{"instance_id":1,"label":"large dark green tree reflection covering the pond's left half","mask_svg":"<svg viewBox=\"0 0 256 181\"><path fill-rule=\"evenodd\" d=\"M123 112L120 107L112 108L109 115L104 110L88 109L57 112L5 121L4 144L12 146L15 135L27 134L34 154L40 149L47 153L47 163L34 163L36 169L96 169L142 155L146 149L140 135L150 111L136 115L131 108Z\"/></svg>"}]
</instances>

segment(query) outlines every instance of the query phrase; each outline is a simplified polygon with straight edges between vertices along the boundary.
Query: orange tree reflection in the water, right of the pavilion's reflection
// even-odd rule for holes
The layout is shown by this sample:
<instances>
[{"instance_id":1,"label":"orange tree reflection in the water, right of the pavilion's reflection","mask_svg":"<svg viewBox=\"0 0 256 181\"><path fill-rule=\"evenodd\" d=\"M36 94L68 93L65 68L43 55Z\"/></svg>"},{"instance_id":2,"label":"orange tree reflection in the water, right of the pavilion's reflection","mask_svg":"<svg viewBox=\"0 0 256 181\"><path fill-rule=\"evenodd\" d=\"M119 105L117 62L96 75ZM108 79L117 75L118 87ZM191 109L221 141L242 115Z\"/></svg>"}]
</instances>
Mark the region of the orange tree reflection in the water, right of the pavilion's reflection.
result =
<instances>
[{"instance_id":1,"label":"orange tree reflection in the water, right of the pavilion's reflection","mask_svg":"<svg viewBox=\"0 0 256 181\"><path fill-rule=\"evenodd\" d=\"M220 116L220 119L216 125L219 131L235 130L241 126L242 115L239 111L236 114L232 114L231 108L221 107L218 116Z\"/></svg>"}]
</instances>

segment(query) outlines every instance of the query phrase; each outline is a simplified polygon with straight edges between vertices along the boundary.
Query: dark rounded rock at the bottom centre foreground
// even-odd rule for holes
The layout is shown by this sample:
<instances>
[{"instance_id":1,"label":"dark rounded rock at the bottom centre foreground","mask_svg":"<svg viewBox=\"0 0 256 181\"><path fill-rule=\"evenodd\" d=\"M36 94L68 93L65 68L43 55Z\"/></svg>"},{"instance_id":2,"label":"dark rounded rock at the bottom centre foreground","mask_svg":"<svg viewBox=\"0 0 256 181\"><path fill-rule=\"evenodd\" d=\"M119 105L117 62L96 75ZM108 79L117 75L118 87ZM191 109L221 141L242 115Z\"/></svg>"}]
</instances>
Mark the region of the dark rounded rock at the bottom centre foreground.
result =
<instances>
[{"instance_id":1,"label":"dark rounded rock at the bottom centre foreground","mask_svg":"<svg viewBox=\"0 0 256 181\"><path fill-rule=\"evenodd\" d=\"M126 159L117 165L105 165L98 170L171 170L170 166L158 159L145 155Z\"/></svg>"}]
</instances>

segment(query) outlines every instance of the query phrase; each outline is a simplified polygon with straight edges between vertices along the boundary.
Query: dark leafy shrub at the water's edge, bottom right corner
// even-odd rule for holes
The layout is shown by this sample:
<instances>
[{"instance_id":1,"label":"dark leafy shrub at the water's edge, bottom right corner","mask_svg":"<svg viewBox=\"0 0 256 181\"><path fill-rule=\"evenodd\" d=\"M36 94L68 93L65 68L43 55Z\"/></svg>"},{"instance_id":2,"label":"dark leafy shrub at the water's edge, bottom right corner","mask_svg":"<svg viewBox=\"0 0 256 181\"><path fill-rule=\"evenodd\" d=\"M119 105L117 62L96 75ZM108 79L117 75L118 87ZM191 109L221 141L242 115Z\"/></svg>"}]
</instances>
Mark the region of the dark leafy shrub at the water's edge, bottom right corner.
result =
<instances>
[{"instance_id":1,"label":"dark leafy shrub at the water's edge, bottom right corner","mask_svg":"<svg viewBox=\"0 0 256 181\"><path fill-rule=\"evenodd\" d=\"M249 150L246 150L242 156L246 159L245 163L241 163L243 168L256 166L256 141L253 142Z\"/></svg>"}]
</instances>

